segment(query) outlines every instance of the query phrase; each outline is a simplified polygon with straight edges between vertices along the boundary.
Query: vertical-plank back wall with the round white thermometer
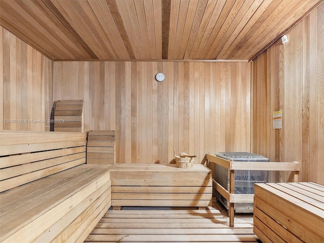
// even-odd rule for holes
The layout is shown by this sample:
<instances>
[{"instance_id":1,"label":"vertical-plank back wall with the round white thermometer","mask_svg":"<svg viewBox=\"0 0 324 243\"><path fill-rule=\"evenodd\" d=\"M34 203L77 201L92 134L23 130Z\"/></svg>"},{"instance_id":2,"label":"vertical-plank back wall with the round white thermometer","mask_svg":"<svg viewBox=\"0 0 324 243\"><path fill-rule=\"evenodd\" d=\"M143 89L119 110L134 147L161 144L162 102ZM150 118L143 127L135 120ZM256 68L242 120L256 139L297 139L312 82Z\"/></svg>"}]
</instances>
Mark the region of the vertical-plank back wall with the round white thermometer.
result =
<instances>
[{"instance_id":1,"label":"vertical-plank back wall with the round white thermometer","mask_svg":"<svg viewBox=\"0 0 324 243\"><path fill-rule=\"evenodd\" d=\"M251 150L247 62L54 62L53 99L84 100L85 131L116 130L116 163ZM166 79L158 83L157 72Z\"/></svg>"}]
</instances>

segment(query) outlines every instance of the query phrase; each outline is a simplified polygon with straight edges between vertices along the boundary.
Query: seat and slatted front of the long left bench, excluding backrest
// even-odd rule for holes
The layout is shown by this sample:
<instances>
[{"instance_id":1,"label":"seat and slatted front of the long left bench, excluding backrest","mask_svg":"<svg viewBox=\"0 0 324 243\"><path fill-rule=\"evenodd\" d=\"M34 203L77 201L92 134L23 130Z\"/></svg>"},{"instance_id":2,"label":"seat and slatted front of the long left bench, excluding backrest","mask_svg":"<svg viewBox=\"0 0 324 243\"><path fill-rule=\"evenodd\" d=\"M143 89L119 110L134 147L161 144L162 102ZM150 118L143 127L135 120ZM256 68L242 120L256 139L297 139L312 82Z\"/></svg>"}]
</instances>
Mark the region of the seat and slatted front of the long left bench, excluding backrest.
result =
<instances>
[{"instance_id":1,"label":"seat and slatted front of the long left bench, excluding backrest","mask_svg":"<svg viewBox=\"0 0 324 243\"><path fill-rule=\"evenodd\" d=\"M80 165L0 194L1 242L83 242L111 206L111 166Z\"/></svg>"}]
</instances>

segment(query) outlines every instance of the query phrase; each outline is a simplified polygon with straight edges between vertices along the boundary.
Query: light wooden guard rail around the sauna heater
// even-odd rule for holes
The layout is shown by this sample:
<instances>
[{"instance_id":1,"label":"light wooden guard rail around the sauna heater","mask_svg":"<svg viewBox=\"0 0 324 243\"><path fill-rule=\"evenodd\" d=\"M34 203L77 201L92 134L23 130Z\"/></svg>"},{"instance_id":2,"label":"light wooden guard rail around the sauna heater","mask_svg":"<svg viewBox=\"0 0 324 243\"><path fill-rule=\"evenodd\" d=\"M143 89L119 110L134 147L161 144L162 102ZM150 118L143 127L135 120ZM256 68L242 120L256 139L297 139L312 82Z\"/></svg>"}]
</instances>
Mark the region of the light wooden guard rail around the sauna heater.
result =
<instances>
[{"instance_id":1,"label":"light wooden guard rail around the sauna heater","mask_svg":"<svg viewBox=\"0 0 324 243\"><path fill-rule=\"evenodd\" d=\"M207 167L210 163L220 165L229 170L229 191L213 179L213 187L229 202L229 226L234 227L234 203L253 203L254 194L234 194L234 173L235 170L249 171L291 171L292 182L298 182L299 163L293 162L251 162L233 161L206 154Z\"/></svg>"}]
</instances>

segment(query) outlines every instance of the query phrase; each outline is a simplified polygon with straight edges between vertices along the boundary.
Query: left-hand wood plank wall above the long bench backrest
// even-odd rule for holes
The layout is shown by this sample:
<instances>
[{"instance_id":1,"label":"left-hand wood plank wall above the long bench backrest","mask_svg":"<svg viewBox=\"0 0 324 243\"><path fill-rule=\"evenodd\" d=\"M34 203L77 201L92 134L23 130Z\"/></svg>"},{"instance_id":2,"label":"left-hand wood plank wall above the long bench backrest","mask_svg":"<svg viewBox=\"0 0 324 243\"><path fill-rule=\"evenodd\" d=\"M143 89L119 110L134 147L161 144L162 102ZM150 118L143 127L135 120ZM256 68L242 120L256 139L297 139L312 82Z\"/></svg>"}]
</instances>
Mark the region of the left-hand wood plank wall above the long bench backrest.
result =
<instances>
[{"instance_id":1,"label":"left-hand wood plank wall above the long bench backrest","mask_svg":"<svg viewBox=\"0 0 324 243\"><path fill-rule=\"evenodd\" d=\"M0 26L0 130L50 131L53 62Z\"/></svg>"}]
</instances>

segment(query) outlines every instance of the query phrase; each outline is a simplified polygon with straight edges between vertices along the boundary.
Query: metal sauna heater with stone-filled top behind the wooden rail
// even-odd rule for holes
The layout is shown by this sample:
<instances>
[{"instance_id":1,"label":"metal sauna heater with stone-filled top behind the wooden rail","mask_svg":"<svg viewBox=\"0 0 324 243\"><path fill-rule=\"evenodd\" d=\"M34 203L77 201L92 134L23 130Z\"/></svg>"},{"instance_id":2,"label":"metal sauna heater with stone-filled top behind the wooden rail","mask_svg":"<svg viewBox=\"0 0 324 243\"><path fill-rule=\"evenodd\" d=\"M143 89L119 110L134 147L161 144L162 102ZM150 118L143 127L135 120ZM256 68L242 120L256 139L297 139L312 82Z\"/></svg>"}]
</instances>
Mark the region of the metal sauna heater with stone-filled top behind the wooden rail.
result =
<instances>
[{"instance_id":1,"label":"metal sauna heater with stone-filled top behind the wooden rail","mask_svg":"<svg viewBox=\"0 0 324 243\"><path fill-rule=\"evenodd\" d=\"M260 154L248 153L248 152L220 152L216 154L217 157L221 157L232 161L249 161L249 162L269 162L269 158ZM226 190L229 190L229 170L216 165L215 170L216 181L223 186ZM235 194L254 194L255 183L268 182L268 171L240 171L235 170L234 176L234 192ZM216 191L217 199L229 209L229 203L227 200ZM235 213L253 213L253 204L234 204Z\"/></svg>"}]
</instances>

